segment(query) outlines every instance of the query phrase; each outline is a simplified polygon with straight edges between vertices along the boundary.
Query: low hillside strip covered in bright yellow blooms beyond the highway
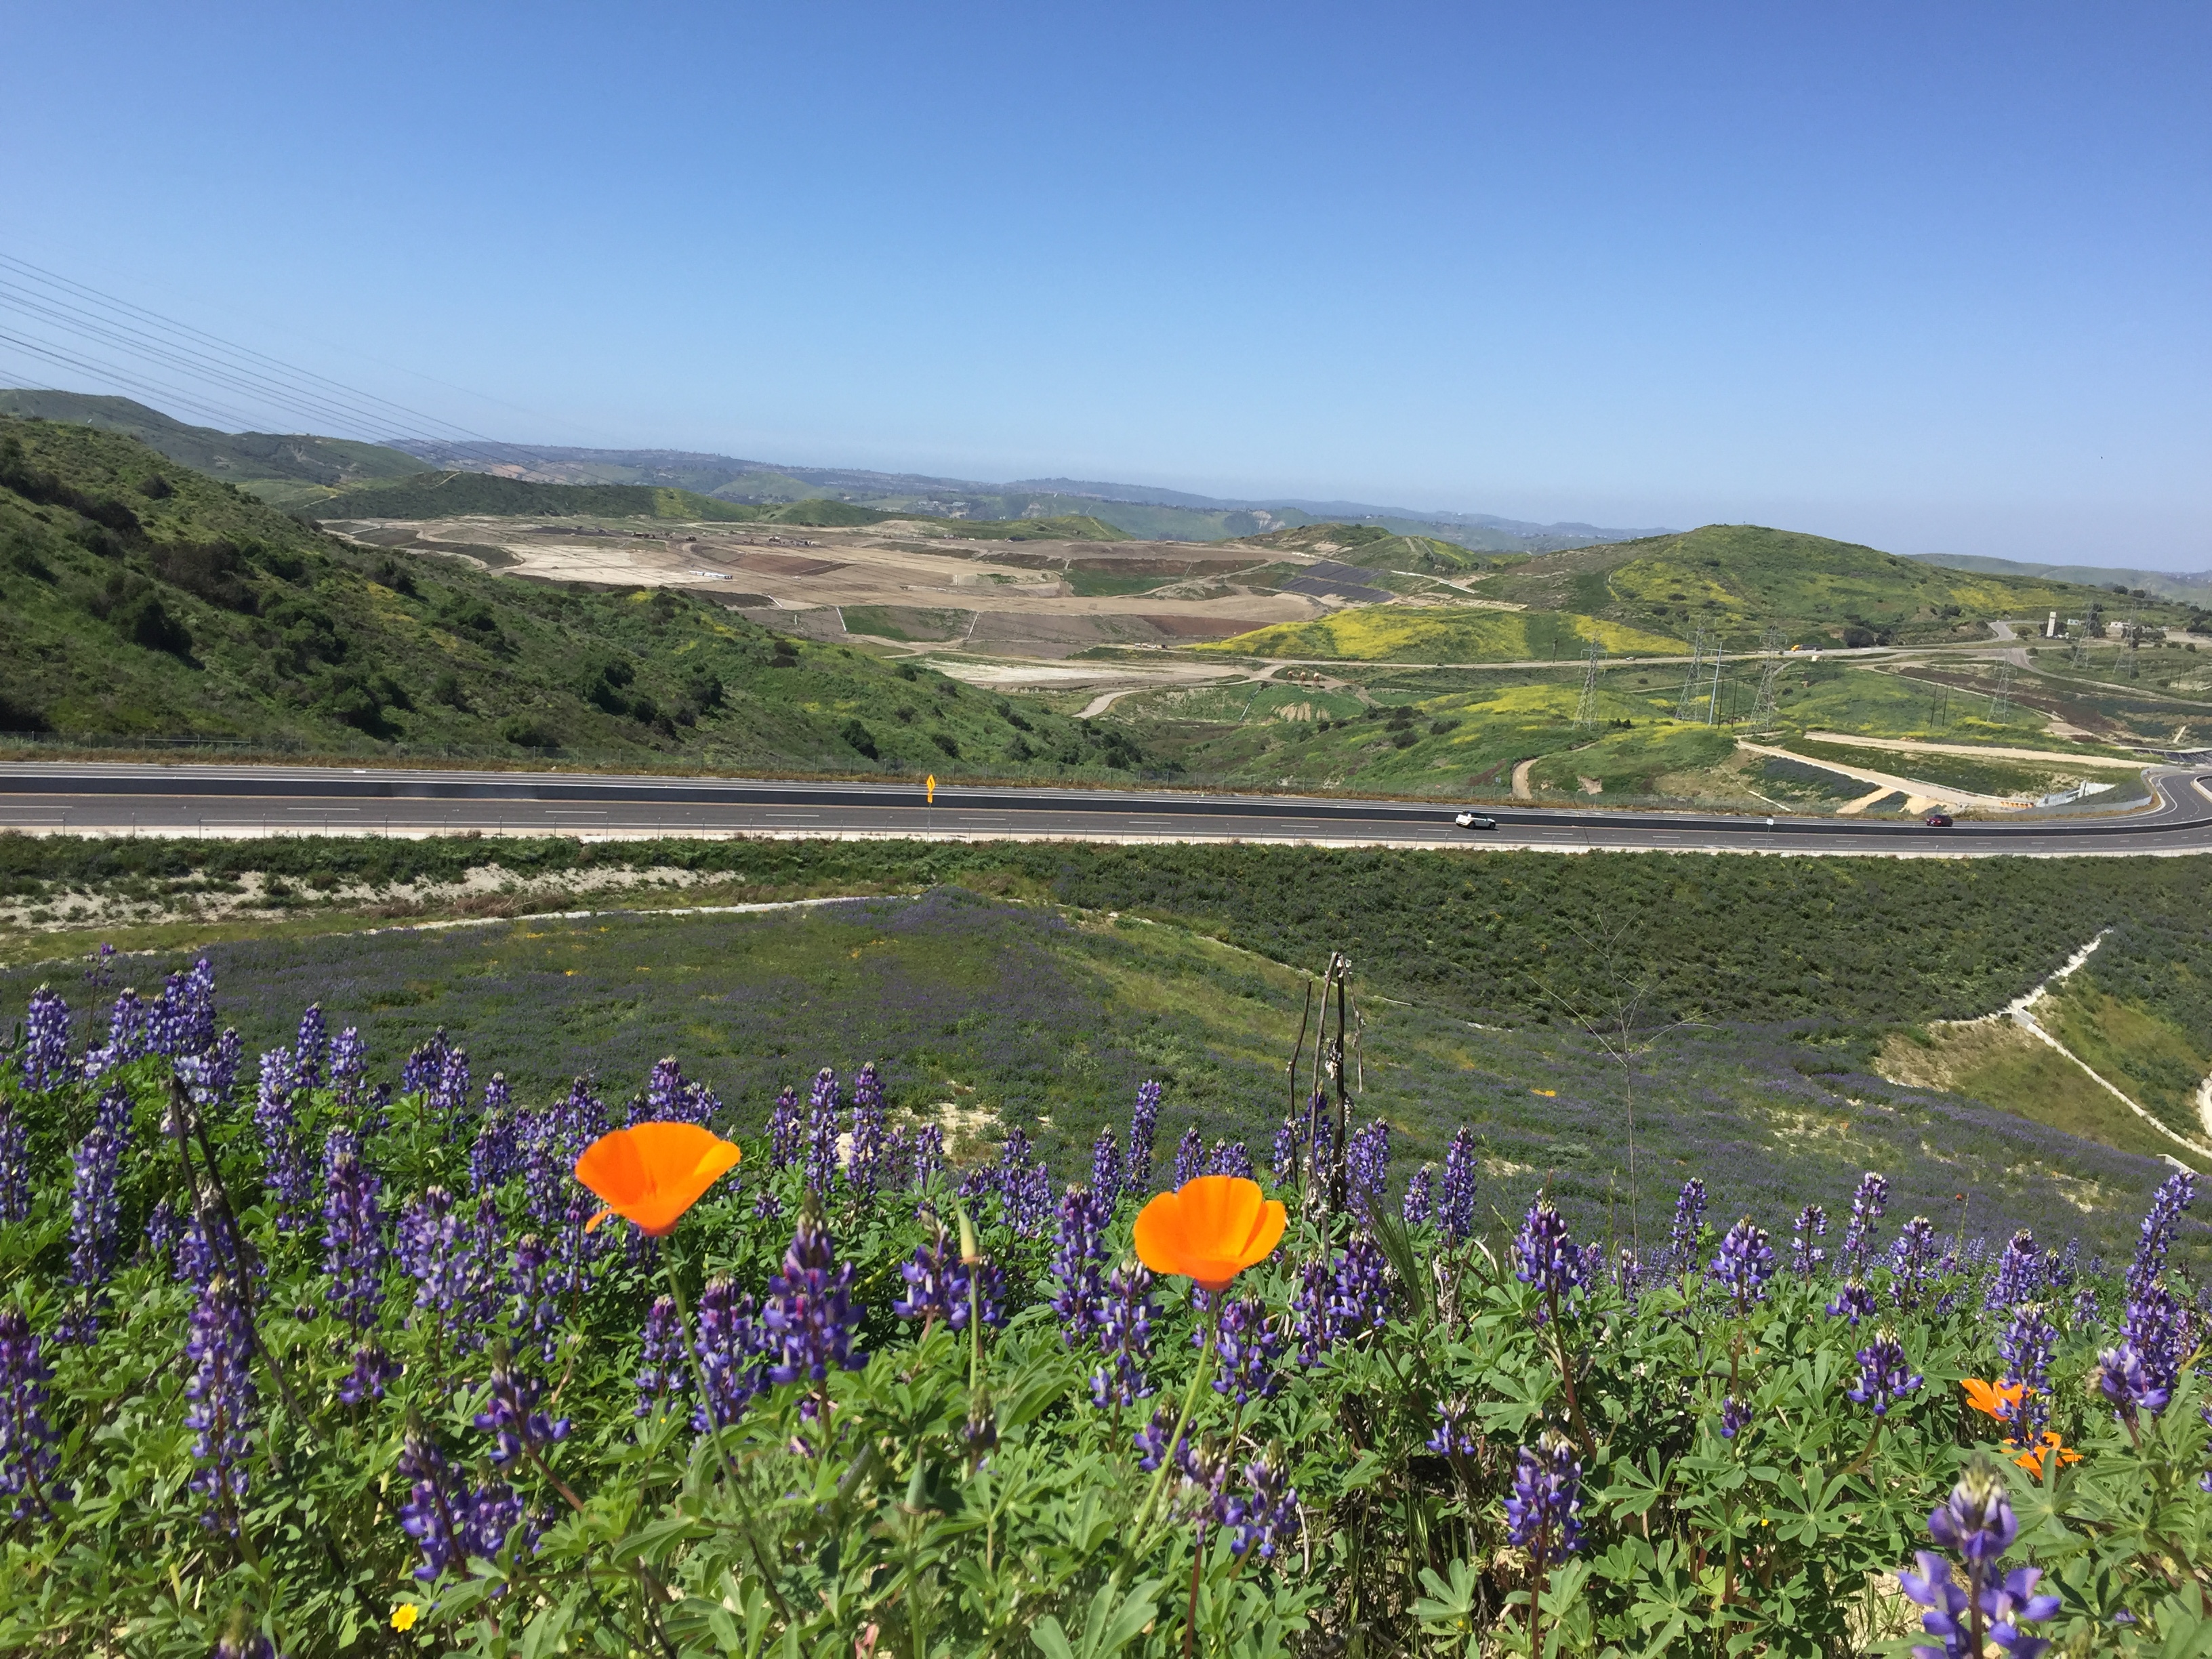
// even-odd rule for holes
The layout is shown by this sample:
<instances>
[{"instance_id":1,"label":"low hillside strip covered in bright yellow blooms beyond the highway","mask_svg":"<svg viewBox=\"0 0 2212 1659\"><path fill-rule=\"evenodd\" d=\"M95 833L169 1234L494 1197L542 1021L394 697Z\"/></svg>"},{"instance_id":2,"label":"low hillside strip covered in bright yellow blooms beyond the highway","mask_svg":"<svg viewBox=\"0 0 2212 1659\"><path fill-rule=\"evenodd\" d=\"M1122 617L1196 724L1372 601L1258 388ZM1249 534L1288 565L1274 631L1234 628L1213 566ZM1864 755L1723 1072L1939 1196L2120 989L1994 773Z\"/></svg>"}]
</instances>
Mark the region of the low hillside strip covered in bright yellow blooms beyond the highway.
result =
<instances>
[{"instance_id":1,"label":"low hillside strip covered in bright yellow blooms beyond the highway","mask_svg":"<svg viewBox=\"0 0 2212 1659\"><path fill-rule=\"evenodd\" d=\"M1314 622L1219 639L1197 650L1228 657L1327 661L1566 661L1590 639L1613 655L1670 655L1681 639L1555 611L1365 604Z\"/></svg>"}]
</instances>

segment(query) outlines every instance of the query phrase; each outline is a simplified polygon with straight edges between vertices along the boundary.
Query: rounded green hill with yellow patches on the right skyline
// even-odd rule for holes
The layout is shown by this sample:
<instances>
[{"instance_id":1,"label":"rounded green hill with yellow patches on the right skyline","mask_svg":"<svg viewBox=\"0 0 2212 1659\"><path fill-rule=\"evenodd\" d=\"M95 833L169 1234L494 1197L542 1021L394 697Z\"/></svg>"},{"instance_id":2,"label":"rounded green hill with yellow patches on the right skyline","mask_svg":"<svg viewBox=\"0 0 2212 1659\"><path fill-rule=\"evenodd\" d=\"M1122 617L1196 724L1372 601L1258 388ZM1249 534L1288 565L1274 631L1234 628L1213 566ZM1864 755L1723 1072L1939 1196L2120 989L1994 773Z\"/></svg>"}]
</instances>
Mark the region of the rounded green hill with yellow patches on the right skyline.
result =
<instances>
[{"instance_id":1,"label":"rounded green hill with yellow patches on the right skyline","mask_svg":"<svg viewBox=\"0 0 2212 1659\"><path fill-rule=\"evenodd\" d=\"M1489 577L1482 593L1681 637L1708 624L1732 648L1756 644L1767 624L1778 624L1790 644L1871 646L1986 639L1991 619L2086 615L2095 602L2112 608L2112 595L2099 588L1951 571L1761 524L1705 524L1546 553Z\"/></svg>"}]
</instances>

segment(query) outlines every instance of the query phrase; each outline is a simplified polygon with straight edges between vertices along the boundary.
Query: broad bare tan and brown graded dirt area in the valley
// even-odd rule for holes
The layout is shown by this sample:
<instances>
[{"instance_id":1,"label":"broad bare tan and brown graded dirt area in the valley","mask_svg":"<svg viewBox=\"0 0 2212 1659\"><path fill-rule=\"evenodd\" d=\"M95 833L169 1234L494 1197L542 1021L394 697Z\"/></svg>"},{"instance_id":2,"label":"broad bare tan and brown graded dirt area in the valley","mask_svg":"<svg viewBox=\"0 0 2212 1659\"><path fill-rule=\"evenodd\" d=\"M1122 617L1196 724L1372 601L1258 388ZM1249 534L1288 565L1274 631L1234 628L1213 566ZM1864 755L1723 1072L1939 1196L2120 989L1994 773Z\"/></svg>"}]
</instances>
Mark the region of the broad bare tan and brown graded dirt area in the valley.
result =
<instances>
[{"instance_id":1,"label":"broad bare tan and brown graded dirt area in the valley","mask_svg":"<svg viewBox=\"0 0 2212 1659\"><path fill-rule=\"evenodd\" d=\"M1009 657L1071 657L1099 644L1228 639L1310 622L1352 597L1310 555L1203 542L960 540L942 524L867 529L533 522L453 518L332 524L372 546L473 560L504 575L604 586L681 586L816 639L958 644ZM1263 564L1323 566L1298 591L1248 577Z\"/></svg>"}]
</instances>

